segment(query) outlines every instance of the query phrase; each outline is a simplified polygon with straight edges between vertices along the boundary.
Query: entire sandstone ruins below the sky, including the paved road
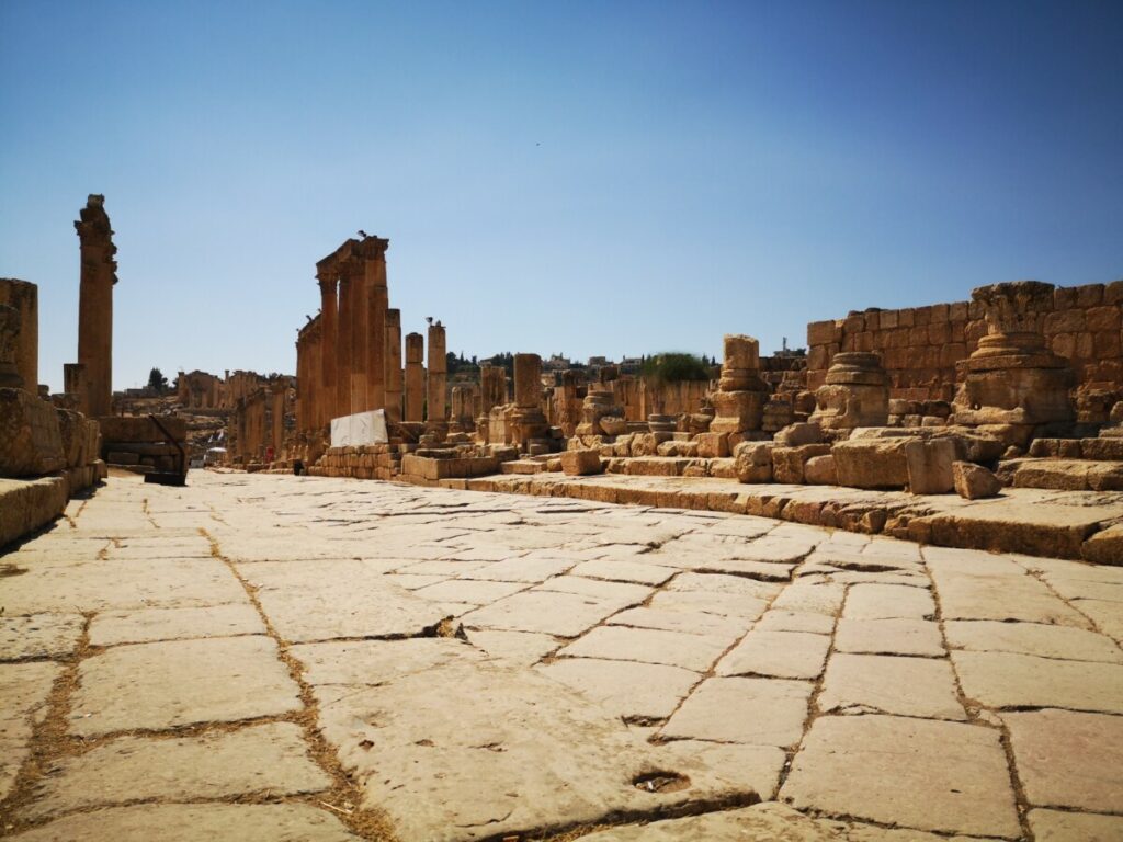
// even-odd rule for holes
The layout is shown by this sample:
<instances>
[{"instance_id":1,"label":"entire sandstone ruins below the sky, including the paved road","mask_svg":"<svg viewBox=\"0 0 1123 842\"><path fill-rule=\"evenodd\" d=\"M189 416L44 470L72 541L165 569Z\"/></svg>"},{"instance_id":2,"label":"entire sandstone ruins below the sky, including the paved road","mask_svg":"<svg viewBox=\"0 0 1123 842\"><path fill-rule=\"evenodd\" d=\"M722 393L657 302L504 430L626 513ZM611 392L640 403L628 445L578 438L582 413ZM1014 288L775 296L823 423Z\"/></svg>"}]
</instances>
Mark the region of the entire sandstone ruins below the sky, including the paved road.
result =
<instances>
[{"instance_id":1,"label":"entire sandstone ruins below the sky, including the paved road","mask_svg":"<svg viewBox=\"0 0 1123 842\"><path fill-rule=\"evenodd\" d=\"M462 365L360 232L294 375L113 392L75 227L63 393L0 280L0 835L1123 839L1123 281Z\"/></svg>"}]
</instances>

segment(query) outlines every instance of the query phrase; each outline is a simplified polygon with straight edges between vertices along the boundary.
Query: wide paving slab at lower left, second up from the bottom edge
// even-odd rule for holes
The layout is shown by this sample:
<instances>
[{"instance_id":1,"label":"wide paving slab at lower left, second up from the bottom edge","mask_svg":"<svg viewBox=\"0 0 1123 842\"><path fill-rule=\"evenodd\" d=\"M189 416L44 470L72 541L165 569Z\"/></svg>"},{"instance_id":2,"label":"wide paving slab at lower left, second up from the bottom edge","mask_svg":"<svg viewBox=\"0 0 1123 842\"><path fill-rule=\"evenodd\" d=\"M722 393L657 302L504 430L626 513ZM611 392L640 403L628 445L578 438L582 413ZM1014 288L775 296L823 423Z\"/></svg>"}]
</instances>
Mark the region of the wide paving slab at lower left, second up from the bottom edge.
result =
<instances>
[{"instance_id":1,"label":"wide paving slab at lower left, second up from the bottom edge","mask_svg":"<svg viewBox=\"0 0 1123 842\"><path fill-rule=\"evenodd\" d=\"M37 781L26 818L140 800L195 802L331 787L308 758L298 725L252 725L172 740L125 736L57 761Z\"/></svg>"}]
</instances>

